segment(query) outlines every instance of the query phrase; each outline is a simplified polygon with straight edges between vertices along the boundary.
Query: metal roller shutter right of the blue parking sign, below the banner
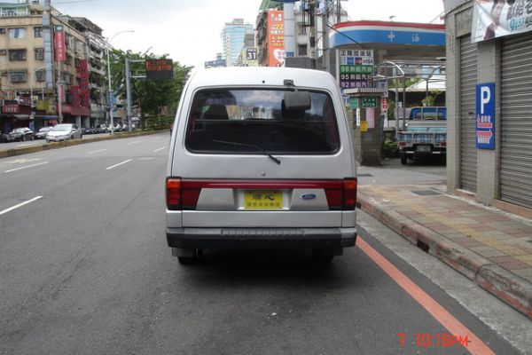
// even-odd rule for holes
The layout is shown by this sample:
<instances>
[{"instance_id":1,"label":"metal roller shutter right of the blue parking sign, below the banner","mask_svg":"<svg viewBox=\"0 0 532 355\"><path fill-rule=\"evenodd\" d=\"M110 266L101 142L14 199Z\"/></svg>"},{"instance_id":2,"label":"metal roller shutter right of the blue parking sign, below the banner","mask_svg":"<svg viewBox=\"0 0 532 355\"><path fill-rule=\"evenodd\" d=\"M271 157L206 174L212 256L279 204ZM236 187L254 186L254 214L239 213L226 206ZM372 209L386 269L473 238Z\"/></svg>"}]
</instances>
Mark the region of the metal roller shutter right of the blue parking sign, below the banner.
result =
<instances>
[{"instance_id":1,"label":"metal roller shutter right of the blue parking sign, below the banner","mask_svg":"<svg viewBox=\"0 0 532 355\"><path fill-rule=\"evenodd\" d=\"M532 34L501 47L500 199L532 208Z\"/></svg>"}]
</instances>

